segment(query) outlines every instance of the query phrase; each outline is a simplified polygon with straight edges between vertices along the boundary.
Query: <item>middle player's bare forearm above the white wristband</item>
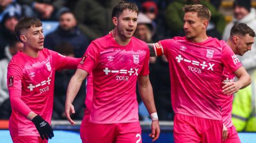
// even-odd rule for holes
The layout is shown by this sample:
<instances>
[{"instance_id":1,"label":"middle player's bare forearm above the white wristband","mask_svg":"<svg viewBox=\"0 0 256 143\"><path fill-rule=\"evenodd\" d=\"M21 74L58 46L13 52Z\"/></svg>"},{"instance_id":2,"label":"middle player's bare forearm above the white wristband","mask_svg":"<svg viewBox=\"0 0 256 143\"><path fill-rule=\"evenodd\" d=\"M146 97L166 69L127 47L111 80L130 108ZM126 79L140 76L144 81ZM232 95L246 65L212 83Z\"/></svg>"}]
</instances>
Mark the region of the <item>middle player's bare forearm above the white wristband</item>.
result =
<instances>
[{"instance_id":1,"label":"middle player's bare forearm above the white wristband","mask_svg":"<svg viewBox=\"0 0 256 143\"><path fill-rule=\"evenodd\" d=\"M156 112L154 95L151 83L147 85L139 85L139 92L143 103L145 104L149 114Z\"/></svg>"}]
</instances>

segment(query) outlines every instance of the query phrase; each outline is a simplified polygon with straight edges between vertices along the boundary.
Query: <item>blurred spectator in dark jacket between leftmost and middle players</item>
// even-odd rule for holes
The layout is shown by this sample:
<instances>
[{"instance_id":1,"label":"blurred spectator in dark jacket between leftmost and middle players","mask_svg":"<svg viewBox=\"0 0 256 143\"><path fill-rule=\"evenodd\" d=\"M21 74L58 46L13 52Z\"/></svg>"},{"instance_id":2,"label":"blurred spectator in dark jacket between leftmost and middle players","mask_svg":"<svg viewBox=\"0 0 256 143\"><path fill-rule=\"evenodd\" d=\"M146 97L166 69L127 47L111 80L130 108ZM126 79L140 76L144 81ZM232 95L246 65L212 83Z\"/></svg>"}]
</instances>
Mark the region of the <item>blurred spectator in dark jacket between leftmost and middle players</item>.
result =
<instances>
[{"instance_id":1,"label":"blurred spectator in dark jacket between leftmost and middle players","mask_svg":"<svg viewBox=\"0 0 256 143\"><path fill-rule=\"evenodd\" d=\"M67 42L74 47L75 57L82 57L89 40L77 27L77 21L70 11L62 12L59 18L60 26L45 37L44 46L56 51L57 45Z\"/></svg>"}]
</instances>

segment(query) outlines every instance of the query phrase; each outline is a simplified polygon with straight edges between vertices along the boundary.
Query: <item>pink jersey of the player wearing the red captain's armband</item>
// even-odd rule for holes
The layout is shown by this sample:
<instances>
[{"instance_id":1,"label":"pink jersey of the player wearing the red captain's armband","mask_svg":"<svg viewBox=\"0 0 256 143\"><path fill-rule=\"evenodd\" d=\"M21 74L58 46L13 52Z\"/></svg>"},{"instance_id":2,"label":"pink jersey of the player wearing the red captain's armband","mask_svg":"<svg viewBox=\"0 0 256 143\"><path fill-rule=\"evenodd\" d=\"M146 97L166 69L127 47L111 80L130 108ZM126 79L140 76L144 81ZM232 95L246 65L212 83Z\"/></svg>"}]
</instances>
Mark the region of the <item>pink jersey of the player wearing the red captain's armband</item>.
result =
<instances>
[{"instance_id":1,"label":"pink jersey of the player wearing the red captain's armband","mask_svg":"<svg viewBox=\"0 0 256 143\"><path fill-rule=\"evenodd\" d=\"M174 37L154 44L167 57L174 113L221 120L223 67L236 71L240 63L225 41L209 37L192 43Z\"/></svg>"}]
</instances>

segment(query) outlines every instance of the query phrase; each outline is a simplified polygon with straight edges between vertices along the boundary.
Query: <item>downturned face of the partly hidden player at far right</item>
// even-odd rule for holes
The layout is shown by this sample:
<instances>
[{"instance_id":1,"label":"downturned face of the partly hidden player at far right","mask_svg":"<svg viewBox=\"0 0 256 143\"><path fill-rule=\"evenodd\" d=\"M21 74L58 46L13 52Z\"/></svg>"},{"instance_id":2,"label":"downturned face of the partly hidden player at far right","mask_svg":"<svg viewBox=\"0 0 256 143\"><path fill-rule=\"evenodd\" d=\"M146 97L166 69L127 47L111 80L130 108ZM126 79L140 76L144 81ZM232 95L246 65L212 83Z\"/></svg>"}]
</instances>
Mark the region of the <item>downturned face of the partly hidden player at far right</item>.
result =
<instances>
[{"instance_id":1,"label":"downturned face of the partly hidden player at far right","mask_svg":"<svg viewBox=\"0 0 256 143\"><path fill-rule=\"evenodd\" d=\"M252 44L254 43L254 38L249 34L244 36L238 36L236 54L243 56L247 51L251 51Z\"/></svg>"}]
</instances>

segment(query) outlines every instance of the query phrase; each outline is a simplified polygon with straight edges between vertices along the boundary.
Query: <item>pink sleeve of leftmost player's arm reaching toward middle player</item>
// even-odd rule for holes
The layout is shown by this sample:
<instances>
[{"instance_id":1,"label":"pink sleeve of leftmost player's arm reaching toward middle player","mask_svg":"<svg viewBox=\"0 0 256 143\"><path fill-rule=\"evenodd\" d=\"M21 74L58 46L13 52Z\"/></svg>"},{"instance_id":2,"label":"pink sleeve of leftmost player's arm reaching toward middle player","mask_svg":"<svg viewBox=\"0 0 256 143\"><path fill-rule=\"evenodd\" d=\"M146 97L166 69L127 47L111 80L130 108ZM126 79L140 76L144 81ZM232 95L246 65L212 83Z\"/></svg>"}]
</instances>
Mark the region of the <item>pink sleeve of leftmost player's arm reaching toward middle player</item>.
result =
<instances>
[{"instance_id":1,"label":"pink sleeve of leftmost player's arm reaching toward middle player","mask_svg":"<svg viewBox=\"0 0 256 143\"><path fill-rule=\"evenodd\" d=\"M82 59L82 58L63 56L60 53L54 52L51 50L49 50L49 52L53 57L53 65L55 66L56 70L76 69L78 63Z\"/></svg>"}]
</instances>

